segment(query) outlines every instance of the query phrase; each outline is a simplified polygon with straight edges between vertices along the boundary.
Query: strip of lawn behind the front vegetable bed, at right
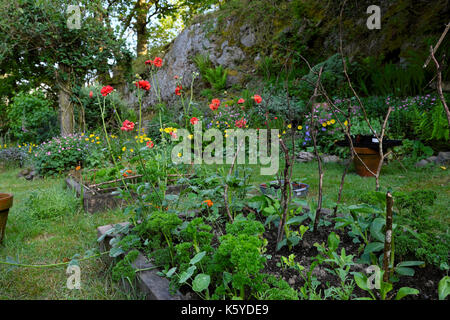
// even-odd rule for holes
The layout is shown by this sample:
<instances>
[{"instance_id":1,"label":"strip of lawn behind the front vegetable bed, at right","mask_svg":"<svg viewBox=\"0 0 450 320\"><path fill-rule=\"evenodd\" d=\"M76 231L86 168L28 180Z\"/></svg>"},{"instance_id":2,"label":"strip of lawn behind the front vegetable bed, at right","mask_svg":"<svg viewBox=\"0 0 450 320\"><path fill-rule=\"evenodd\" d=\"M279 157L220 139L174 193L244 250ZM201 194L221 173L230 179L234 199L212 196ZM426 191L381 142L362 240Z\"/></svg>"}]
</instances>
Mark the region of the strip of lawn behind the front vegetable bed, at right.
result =
<instances>
[{"instance_id":1,"label":"strip of lawn behind the front vegetable bed, at right","mask_svg":"<svg viewBox=\"0 0 450 320\"><path fill-rule=\"evenodd\" d=\"M255 186L275 180L276 176L261 176L259 168L253 167L250 182ZM341 183L344 166L338 163L324 164L323 192L324 207L331 208L336 202ZM279 172L282 172L280 166ZM317 162L295 163L292 180L310 185L308 198L317 199L319 189L319 172ZM402 167L399 162L384 165L380 176L380 187L383 192L391 191L415 191L433 190L437 193L437 199L432 208L433 216L442 223L450 224L450 169L441 169L439 166L415 168ZM359 204L360 196L367 191L375 190L375 178L360 177L356 174L353 165L345 178L342 203Z\"/></svg>"}]
</instances>

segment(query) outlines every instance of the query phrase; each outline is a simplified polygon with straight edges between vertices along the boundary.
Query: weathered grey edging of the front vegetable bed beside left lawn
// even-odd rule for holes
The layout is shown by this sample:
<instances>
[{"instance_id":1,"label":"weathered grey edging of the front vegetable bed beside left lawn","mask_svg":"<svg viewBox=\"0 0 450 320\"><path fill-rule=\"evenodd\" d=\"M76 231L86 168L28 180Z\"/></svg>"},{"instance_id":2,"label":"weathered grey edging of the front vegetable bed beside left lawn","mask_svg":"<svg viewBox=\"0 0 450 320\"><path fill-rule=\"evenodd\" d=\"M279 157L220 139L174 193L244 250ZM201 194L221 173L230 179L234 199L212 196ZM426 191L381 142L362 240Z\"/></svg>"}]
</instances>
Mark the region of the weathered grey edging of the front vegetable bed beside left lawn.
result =
<instances>
[{"instance_id":1,"label":"weathered grey edging of the front vegetable bed beside left lawn","mask_svg":"<svg viewBox=\"0 0 450 320\"><path fill-rule=\"evenodd\" d=\"M101 236L105 235L116 224L109 224L98 227L97 236L100 238ZM128 222L118 224L126 225L128 224ZM101 252L110 250L111 247L109 245L109 242L112 238L114 238L114 236L107 234L99 243ZM104 255L102 259L107 264L112 264L114 262L114 259L110 256ZM137 272L136 278L133 283L133 287L136 288L136 290L138 290L140 293L143 293L147 300L188 300L178 290L175 295L171 295L169 293L169 281L157 274L159 270L156 269L156 267L150 261L148 261L142 253L139 253L137 259L132 263L132 267L134 269L155 268L153 270ZM126 292L132 291L131 285L124 279L121 282L121 286Z\"/></svg>"}]
</instances>

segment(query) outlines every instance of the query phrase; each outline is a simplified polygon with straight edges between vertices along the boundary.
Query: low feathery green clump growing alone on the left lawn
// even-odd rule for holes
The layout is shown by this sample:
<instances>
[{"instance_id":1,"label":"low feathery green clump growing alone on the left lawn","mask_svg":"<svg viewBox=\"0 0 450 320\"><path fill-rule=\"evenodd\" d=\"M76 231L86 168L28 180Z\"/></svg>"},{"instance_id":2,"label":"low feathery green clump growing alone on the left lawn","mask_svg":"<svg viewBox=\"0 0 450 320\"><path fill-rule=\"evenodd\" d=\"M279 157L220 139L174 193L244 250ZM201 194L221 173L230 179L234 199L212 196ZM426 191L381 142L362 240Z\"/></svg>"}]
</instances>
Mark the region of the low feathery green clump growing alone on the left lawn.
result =
<instances>
[{"instance_id":1,"label":"low feathery green clump growing alone on the left lawn","mask_svg":"<svg viewBox=\"0 0 450 320\"><path fill-rule=\"evenodd\" d=\"M25 210L32 217L42 220L73 215L79 206L79 201L74 194L68 190L60 190L60 186L54 186L46 191L32 191L24 203Z\"/></svg>"}]
</instances>

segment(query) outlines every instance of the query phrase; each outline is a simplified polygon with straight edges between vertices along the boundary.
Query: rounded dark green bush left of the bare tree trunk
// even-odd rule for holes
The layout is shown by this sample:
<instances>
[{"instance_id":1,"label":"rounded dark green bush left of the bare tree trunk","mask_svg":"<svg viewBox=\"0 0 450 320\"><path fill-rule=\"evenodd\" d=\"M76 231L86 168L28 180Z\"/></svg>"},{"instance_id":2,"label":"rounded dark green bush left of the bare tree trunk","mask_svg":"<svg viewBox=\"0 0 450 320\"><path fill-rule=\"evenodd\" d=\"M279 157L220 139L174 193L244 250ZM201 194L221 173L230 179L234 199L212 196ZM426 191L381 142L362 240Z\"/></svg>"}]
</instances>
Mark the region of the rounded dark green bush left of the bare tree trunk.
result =
<instances>
[{"instance_id":1,"label":"rounded dark green bush left of the bare tree trunk","mask_svg":"<svg viewBox=\"0 0 450 320\"><path fill-rule=\"evenodd\" d=\"M8 106L12 135L20 143L41 143L59 132L58 117L42 92L19 93Z\"/></svg>"}]
</instances>

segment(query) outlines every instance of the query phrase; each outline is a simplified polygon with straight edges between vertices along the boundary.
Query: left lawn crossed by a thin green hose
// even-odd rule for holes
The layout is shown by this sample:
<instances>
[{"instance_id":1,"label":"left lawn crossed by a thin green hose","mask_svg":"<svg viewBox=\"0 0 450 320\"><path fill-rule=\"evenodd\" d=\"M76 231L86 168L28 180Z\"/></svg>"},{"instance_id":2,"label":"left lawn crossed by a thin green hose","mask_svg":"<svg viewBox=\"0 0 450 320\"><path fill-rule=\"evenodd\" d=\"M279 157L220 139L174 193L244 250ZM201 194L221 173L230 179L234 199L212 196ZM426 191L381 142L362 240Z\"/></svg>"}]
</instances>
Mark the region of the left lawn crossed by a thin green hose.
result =
<instances>
[{"instance_id":1,"label":"left lawn crossed by a thin green hose","mask_svg":"<svg viewBox=\"0 0 450 320\"><path fill-rule=\"evenodd\" d=\"M83 255L88 249L98 248L98 226L127 220L119 210L93 215L85 213L74 201L71 191L64 188L63 179L26 181L17 178L18 172L0 171L0 192L14 195L5 239L0 245L2 261L11 257L23 264L60 263L64 258L70 259L77 253ZM32 193L39 196L27 205ZM38 208L40 205L51 207L51 216L47 217L46 211ZM36 212L44 215L36 215ZM11 269L0 265L0 299L127 298L111 281L110 267L99 258L80 262L80 290L67 289L69 275L66 268Z\"/></svg>"}]
</instances>

